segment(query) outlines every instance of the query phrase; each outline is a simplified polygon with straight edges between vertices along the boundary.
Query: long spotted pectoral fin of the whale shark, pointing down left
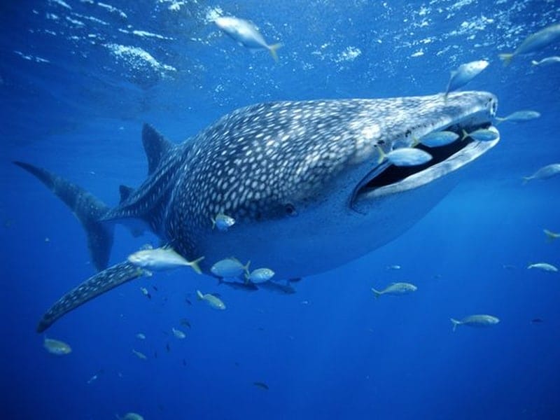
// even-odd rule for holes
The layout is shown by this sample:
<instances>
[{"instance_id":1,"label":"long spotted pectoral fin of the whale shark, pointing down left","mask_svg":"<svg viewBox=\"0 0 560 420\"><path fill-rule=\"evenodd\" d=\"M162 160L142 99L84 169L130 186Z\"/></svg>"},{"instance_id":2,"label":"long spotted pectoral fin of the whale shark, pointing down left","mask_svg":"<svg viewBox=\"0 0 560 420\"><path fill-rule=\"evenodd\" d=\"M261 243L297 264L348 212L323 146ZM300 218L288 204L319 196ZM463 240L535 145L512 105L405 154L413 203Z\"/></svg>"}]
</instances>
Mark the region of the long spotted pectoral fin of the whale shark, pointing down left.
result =
<instances>
[{"instance_id":1,"label":"long spotted pectoral fin of the whale shark, pointing down left","mask_svg":"<svg viewBox=\"0 0 560 420\"><path fill-rule=\"evenodd\" d=\"M102 295L127 281L137 279L142 274L144 274L143 270L130 262L120 262L120 264L113 265L113 267L91 276L62 296L45 312L37 325L37 332L45 331L58 318L83 305L88 300L92 300L94 297Z\"/></svg>"}]
</instances>

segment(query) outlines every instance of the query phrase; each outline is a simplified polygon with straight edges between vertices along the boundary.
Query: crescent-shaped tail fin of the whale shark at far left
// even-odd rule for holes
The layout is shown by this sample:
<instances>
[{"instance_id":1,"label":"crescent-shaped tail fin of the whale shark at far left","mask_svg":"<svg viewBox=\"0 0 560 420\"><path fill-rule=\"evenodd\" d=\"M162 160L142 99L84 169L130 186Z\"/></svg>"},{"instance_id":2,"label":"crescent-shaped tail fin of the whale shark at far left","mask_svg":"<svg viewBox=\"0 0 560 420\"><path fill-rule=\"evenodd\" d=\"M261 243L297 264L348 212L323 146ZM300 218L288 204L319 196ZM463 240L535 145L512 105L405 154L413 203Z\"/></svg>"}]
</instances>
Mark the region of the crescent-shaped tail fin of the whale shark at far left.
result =
<instances>
[{"instance_id":1,"label":"crescent-shaped tail fin of the whale shark at far left","mask_svg":"<svg viewBox=\"0 0 560 420\"><path fill-rule=\"evenodd\" d=\"M36 176L71 209L85 230L87 247L95 267L98 270L107 267L113 246L113 225L103 223L101 218L109 211L109 207L83 188L45 169L25 162L13 163Z\"/></svg>"}]
</instances>

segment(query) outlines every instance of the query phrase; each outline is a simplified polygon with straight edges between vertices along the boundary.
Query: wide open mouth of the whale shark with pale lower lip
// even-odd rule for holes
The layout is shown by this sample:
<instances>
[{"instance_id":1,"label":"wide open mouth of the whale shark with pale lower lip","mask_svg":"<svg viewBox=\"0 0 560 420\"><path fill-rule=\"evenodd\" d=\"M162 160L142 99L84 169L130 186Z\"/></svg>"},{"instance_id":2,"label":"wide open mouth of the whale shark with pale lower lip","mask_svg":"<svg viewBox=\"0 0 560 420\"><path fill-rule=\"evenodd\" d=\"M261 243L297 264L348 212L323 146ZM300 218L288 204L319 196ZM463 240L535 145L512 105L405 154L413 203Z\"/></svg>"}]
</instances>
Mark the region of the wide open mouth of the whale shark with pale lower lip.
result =
<instances>
[{"instance_id":1,"label":"wide open mouth of the whale shark with pale lower lip","mask_svg":"<svg viewBox=\"0 0 560 420\"><path fill-rule=\"evenodd\" d=\"M473 132L481 128L491 127L488 113L475 113L450 125L437 127L436 130L422 133L423 137L431 132L449 131L458 134L458 139L445 146L428 147L417 144L419 148L432 155L432 159L423 165L398 167L385 161L377 165L358 183L351 196L351 207L360 200L370 200L382 195L401 193L405 190L418 188L435 181L456 169L479 158L479 156L496 146L500 137L493 141L477 141L471 137L463 139L464 132Z\"/></svg>"}]
</instances>

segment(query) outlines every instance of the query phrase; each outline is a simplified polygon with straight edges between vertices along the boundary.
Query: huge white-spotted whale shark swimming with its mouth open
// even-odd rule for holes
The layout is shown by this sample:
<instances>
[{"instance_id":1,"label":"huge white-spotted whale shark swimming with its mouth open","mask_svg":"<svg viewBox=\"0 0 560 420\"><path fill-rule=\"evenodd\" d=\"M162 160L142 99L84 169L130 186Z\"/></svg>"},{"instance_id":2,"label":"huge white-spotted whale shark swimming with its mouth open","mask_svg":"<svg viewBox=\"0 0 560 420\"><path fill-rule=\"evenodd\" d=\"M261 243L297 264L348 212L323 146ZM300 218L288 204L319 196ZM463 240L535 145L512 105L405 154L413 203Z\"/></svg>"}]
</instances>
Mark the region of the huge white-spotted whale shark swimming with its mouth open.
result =
<instances>
[{"instance_id":1,"label":"huge white-spotted whale shark swimming with its mouth open","mask_svg":"<svg viewBox=\"0 0 560 420\"><path fill-rule=\"evenodd\" d=\"M488 128L496 107L488 92L450 93L446 100L437 94L268 102L237 109L183 144L144 125L148 177L138 188L121 186L112 208L45 169L15 162L77 216L99 270L55 302L37 330L144 274L127 261L106 268L116 223L151 230L186 260L204 256L200 268L208 275L232 255L274 267L279 280L365 255L419 221L456 184L457 169L499 141L458 139L430 148L414 139ZM379 149L405 147L433 159L414 167L378 162ZM216 214L235 218L235 229L212 229Z\"/></svg>"}]
</instances>

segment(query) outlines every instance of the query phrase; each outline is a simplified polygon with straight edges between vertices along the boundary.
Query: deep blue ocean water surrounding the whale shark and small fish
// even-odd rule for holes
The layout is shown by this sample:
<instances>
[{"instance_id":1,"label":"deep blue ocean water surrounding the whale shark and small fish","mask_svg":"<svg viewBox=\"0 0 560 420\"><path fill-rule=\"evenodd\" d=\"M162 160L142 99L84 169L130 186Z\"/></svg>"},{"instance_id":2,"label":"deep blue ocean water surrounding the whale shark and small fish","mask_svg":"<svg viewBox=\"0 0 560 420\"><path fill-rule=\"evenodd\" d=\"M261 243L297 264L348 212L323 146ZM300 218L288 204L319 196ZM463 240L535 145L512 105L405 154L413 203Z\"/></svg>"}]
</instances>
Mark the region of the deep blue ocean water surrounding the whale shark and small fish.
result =
<instances>
[{"instance_id":1,"label":"deep blue ocean water surrounding the whale shark and small fish","mask_svg":"<svg viewBox=\"0 0 560 420\"><path fill-rule=\"evenodd\" d=\"M217 15L283 43L279 62L222 34ZM560 22L559 1L5 1L0 20L1 418L560 417L560 275L526 269L560 265L560 240L542 233L560 231L560 179L521 185L560 162L560 64L531 65L560 43L498 59ZM256 102L434 94L475 59L490 66L468 88L496 94L498 115L542 116L500 125L500 144L404 235L293 295L188 270L142 277L46 332L72 353L43 349L36 323L94 268L76 218L12 160L114 205L119 184L146 176L142 123L179 142ZM148 242L117 228L111 263ZM374 299L370 288L396 281L418 290ZM197 289L228 309L197 302ZM449 318L469 314L500 323L452 332Z\"/></svg>"}]
</instances>

